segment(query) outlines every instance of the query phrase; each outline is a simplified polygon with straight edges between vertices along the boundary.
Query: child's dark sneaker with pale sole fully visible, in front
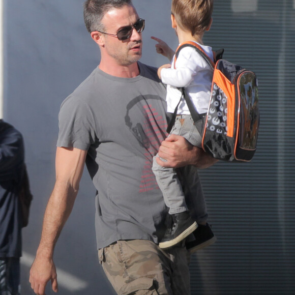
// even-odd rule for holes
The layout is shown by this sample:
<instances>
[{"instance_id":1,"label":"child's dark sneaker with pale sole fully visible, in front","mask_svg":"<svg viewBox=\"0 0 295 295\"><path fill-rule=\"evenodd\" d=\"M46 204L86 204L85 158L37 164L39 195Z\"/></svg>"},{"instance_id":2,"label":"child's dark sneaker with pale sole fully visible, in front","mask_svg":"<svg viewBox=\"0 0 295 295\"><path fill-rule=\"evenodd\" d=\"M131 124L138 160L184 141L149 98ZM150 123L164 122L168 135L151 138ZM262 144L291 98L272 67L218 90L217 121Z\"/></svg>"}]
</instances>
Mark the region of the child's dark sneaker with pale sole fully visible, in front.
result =
<instances>
[{"instance_id":1,"label":"child's dark sneaker with pale sole fully visible, in front","mask_svg":"<svg viewBox=\"0 0 295 295\"><path fill-rule=\"evenodd\" d=\"M159 244L159 247L162 249L178 244L198 227L197 223L191 218L187 211L172 214L171 217L172 225L167 228Z\"/></svg>"}]
</instances>

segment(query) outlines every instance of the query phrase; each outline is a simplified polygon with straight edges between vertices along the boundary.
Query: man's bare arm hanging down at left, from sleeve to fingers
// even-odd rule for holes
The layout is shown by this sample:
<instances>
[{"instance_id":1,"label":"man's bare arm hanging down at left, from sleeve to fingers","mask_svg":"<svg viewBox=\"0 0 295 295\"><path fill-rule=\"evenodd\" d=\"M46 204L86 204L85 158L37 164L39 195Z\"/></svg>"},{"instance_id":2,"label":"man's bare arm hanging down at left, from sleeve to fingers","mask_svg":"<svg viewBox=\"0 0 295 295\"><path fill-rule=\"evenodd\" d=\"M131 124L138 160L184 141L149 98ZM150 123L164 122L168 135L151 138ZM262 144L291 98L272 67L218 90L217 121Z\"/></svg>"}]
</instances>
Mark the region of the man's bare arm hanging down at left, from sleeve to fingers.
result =
<instances>
[{"instance_id":1,"label":"man's bare arm hanging down at left, from sleeve to fingers","mask_svg":"<svg viewBox=\"0 0 295 295\"><path fill-rule=\"evenodd\" d=\"M53 291L58 290L53 251L62 228L72 212L86 154L86 151L74 148L56 149L56 181L46 206L41 241L30 271L31 287L36 294L45 294L49 280Z\"/></svg>"}]
</instances>

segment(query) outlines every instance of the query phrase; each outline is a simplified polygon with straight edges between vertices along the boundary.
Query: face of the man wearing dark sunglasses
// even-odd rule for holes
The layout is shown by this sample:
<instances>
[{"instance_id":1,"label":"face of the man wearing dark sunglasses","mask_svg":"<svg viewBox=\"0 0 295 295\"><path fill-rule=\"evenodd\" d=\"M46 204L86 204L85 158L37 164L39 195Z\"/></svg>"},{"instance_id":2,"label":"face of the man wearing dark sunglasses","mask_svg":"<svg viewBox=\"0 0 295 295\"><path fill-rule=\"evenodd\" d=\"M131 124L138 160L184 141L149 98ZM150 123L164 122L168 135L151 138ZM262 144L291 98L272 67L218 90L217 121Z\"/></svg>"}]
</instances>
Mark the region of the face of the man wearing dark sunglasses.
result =
<instances>
[{"instance_id":1,"label":"face of the man wearing dark sunglasses","mask_svg":"<svg viewBox=\"0 0 295 295\"><path fill-rule=\"evenodd\" d=\"M102 19L102 24L106 33L116 34L121 28L134 25L138 19L139 16L135 8L126 5L121 9L108 11ZM104 34L104 40L107 54L113 57L119 65L129 66L141 57L141 33L137 33L134 28L131 37L127 40L120 41L116 37L106 34Z\"/></svg>"}]
</instances>

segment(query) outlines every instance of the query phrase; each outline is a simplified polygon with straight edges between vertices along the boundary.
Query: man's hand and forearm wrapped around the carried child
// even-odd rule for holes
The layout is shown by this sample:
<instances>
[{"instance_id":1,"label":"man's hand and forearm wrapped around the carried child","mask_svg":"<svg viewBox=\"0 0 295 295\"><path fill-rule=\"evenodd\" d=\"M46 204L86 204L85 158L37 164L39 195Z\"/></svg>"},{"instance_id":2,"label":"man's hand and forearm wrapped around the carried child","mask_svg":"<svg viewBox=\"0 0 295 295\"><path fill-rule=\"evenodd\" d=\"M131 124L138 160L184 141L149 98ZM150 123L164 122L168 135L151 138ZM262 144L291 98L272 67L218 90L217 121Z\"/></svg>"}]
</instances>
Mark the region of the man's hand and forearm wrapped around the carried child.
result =
<instances>
[{"instance_id":1,"label":"man's hand and forearm wrapped around the carried child","mask_svg":"<svg viewBox=\"0 0 295 295\"><path fill-rule=\"evenodd\" d=\"M158 154L159 157L166 160L164 162L157 158L158 164L163 167L178 168L194 165L203 169L218 162L202 149L190 144L184 137L175 134L171 134L162 142Z\"/></svg>"}]
</instances>

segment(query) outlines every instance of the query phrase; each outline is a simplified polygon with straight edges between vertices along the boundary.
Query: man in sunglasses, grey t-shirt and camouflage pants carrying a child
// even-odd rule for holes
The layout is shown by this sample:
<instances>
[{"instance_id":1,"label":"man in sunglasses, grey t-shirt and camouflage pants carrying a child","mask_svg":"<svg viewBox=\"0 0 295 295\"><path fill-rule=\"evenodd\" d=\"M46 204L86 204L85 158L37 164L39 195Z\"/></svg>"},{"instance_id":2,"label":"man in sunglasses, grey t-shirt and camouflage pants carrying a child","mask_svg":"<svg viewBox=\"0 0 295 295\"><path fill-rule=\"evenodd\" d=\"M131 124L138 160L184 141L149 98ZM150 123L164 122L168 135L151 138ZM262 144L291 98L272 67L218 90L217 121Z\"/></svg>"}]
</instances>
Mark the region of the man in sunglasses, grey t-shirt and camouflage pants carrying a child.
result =
<instances>
[{"instance_id":1,"label":"man in sunglasses, grey t-shirt and camouflage pants carrying a child","mask_svg":"<svg viewBox=\"0 0 295 295\"><path fill-rule=\"evenodd\" d=\"M188 251L167 251L158 242L167 210L152 172L163 165L199 167L214 161L182 137L166 137L166 90L155 68L139 63L140 19L130 0L87 0L84 20L101 51L93 73L63 102L56 150L56 182L50 196L30 282L44 294L49 280L57 291L52 260L58 235L69 217L84 163L97 189L99 260L119 294L189 294ZM189 168L189 167L188 167ZM195 215L206 219L196 171ZM173 263L171 263L173 261ZM171 266L173 265L173 266Z\"/></svg>"}]
</instances>

